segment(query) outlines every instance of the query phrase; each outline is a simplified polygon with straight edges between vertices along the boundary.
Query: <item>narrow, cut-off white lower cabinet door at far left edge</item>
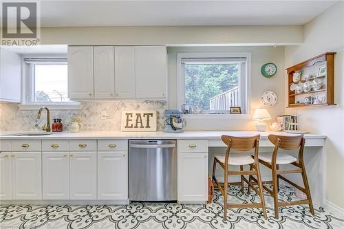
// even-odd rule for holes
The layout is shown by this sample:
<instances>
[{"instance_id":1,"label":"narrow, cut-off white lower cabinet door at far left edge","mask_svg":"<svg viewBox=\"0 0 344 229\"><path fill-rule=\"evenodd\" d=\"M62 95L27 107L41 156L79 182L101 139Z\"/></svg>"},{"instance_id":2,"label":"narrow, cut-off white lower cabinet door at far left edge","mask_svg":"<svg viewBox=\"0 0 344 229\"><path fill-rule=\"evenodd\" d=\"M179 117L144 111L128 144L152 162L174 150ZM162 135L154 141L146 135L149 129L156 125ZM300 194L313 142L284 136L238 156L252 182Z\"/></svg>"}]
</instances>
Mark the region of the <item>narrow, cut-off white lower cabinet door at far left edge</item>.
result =
<instances>
[{"instance_id":1,"label":"narrow, cut-off white lower cabinet door at far left edge","mask_svg":"<svg viewBox=\"0 0 344 229\"><path fill-rule=\"evenodd\" d=\"M0 199L12 199L11 153L0 153Z\"/></svg>"}]
</instances>

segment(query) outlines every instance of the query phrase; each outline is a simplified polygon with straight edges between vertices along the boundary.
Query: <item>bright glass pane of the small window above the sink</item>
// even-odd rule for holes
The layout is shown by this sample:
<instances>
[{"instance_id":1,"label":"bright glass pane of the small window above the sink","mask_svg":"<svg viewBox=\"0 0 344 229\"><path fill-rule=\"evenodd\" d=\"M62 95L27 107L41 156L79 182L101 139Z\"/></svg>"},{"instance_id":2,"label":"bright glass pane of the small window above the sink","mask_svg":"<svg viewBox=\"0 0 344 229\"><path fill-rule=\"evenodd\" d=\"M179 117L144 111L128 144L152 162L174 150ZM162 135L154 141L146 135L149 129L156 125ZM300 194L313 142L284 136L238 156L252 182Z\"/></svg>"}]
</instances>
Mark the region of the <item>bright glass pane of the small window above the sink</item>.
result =
<instances>
[{"instance_id":1,"label":"bright glass pane of the small window above the sink","mask_svg":"<svg viewBox=\"0 0 344 229\"><path fill-rule=\"evenodd\" d=\"M34 65L34 102L66 102L67 65Z\"/></svg>"}]
</instances>

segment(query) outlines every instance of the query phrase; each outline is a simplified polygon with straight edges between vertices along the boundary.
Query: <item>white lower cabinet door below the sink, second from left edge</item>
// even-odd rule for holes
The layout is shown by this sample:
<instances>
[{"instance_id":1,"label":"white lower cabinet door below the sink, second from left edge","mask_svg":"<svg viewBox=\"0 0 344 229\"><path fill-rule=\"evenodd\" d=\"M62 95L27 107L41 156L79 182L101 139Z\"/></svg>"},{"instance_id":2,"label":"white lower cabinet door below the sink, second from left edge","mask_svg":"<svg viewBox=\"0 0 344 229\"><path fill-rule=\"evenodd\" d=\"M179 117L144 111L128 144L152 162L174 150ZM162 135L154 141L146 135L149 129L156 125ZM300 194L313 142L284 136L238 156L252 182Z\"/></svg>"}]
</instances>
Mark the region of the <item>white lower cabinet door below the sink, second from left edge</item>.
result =
<instances>
[{"instance_id":1,"label":"white lower cabinet door below the sink, second from left edge","mask_svg":"<svg viewBox=\"0 0 344 229\"><path fill-rule=\"evenodd\" d=\"M41 152L13 152L12 198L42 199Z\"/></svg>"}]
</instances>

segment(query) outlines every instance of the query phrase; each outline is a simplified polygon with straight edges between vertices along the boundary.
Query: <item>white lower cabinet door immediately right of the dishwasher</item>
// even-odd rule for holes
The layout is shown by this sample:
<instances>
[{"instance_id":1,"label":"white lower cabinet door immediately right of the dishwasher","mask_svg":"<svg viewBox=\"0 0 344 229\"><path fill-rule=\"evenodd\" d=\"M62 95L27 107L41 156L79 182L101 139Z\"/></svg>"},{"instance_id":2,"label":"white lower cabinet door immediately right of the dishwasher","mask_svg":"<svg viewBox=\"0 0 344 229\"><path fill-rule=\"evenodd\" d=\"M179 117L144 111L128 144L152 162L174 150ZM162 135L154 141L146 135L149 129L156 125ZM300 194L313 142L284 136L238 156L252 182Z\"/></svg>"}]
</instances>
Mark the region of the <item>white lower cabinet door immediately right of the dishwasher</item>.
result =
<instances>
[{"instance_id":1,"label":"white lower cabinet door immediately right of the dishwasher","mask_svg":"<svg viewBox=\"0 0 344 229\"><path fill-rule=\"evenodd\" d=\"M208 199L208 153L178 153L178 201Z\"/></svg>"}]
</instances>

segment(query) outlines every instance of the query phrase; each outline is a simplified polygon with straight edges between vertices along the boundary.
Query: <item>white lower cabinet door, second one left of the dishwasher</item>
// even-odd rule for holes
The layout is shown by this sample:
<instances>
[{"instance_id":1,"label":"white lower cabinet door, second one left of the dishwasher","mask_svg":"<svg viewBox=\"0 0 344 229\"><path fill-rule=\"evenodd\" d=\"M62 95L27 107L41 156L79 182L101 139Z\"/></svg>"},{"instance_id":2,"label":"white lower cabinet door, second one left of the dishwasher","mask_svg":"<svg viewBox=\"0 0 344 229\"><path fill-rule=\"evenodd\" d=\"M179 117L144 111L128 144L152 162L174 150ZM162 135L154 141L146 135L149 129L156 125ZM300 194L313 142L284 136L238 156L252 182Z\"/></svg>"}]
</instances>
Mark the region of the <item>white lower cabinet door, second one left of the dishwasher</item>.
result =
<instances>
[{"instance_id":1,"label":"white lower cabinet door, second one left of the dishwasher","mask_svg":"<svg viewBox=\"0 0 344 229\"><path fill-rule=\"evenodd\" d=\"M97 153L70 152L70 199L97 198ZM109 178L109 177L108 177Z\"/></svg>"}]
</instances>

